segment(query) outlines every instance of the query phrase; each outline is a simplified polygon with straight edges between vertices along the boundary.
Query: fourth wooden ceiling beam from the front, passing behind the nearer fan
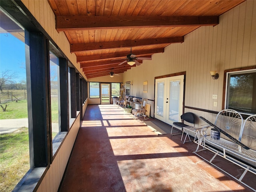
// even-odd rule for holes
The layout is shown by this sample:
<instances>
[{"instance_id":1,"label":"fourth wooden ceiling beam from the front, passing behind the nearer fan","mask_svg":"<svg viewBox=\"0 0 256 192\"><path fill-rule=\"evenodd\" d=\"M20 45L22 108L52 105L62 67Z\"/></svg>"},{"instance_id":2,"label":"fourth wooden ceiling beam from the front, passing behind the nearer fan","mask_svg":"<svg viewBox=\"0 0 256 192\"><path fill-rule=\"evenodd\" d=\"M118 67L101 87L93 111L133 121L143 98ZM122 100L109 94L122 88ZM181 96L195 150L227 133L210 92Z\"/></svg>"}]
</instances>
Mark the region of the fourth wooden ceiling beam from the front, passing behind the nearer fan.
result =
<instances>
[{"instance_id":1,"label":"fourth wooden ceiling beam from the front, passing behind the nearer fan","mask_svg":"<svg viewBox=\"0 0 256 192\"><path fill-rule=\"evenodd\" d=\"M113 68L115 66L118 66L120 62L124 60L103 60L103 61L94 61L94 62L80 62L80 67L81 68L102 68L102 67L108 67L108 68ZM141 64L142 60L138 60L138 62Z\"/></svg>"}]
</instances>

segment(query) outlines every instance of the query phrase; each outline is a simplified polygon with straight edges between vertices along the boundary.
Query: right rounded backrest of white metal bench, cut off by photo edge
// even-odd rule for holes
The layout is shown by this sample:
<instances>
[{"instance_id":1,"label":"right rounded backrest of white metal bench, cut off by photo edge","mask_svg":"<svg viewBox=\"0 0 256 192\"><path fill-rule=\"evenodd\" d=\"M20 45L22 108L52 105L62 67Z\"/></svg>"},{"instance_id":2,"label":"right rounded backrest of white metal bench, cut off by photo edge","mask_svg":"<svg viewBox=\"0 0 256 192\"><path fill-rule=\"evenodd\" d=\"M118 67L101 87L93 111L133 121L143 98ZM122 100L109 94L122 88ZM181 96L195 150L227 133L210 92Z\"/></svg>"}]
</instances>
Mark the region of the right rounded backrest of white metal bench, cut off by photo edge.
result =
<instances>
[{"instance_id":1,"label":"right rounded backrest of white metal bench, cut off by photo edge","mask_svg":"<svg viewBox=\"0 0 256 192\"><path fill-rule=\"evenodd\" d=\"M256 114L244 120L241 130L241 142L249 148L256 150Z\"/></svg>"}]
</instances>

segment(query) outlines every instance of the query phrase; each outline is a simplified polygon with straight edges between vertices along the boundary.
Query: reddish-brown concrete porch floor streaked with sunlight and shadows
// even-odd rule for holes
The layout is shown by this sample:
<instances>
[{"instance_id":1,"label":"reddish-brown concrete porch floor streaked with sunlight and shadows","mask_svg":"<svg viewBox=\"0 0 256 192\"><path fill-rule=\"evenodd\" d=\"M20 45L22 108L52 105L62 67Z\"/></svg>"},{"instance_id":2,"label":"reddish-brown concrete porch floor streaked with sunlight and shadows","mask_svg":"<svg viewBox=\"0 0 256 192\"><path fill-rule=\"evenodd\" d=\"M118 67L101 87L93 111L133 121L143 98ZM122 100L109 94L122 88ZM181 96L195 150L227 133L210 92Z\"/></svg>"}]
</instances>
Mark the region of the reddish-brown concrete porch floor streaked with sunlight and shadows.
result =
<instances>
[{"instance_id":1,"label":"reddish-brown concrete porch floor streaked with sunlight and shadows","mask_svg":"<svg viewBox=\"0 0 256 192\"><path fill-rule=\"evenodd\" d=\"M193 154L181 135L157 135L115 105L88 105L60 192L250 192ZM210 156L210 152L204 151ZM217 158L223 168L241 174ZM255 175L246 174L256 188Z\"/></svg>"}]
</instances>

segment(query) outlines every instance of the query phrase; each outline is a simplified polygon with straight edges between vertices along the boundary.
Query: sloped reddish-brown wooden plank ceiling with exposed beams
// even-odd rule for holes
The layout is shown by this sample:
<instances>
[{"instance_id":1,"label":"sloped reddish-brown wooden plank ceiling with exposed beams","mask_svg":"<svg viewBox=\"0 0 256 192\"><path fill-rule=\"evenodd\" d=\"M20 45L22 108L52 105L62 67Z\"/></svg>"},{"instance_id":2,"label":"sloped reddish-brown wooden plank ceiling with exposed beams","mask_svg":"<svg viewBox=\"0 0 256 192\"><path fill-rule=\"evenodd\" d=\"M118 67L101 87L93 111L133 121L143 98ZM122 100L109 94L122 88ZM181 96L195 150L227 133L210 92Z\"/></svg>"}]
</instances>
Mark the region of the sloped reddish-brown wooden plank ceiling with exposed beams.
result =
<instances>
[{"instance_id":1,"label":"sloped reddish-brown wooden plank ceiling with exposed beams","mask_svg":"<svg viewBox=\"0 0 256 192\"><path fill-rule=\"evenodd\" d=\"M87 78L123 73L244 0L48 0ZM136 64L127 64L131 53ZM135 57L136 56L136 57ZM135 57L135 58L134 58ZM137 58L137 59L136 59ZM142 58L142 59L140 59ZM137 62L138 61L138 62ZM121 62L123 64L119 65Z\"/></svg>"}]
</instances>

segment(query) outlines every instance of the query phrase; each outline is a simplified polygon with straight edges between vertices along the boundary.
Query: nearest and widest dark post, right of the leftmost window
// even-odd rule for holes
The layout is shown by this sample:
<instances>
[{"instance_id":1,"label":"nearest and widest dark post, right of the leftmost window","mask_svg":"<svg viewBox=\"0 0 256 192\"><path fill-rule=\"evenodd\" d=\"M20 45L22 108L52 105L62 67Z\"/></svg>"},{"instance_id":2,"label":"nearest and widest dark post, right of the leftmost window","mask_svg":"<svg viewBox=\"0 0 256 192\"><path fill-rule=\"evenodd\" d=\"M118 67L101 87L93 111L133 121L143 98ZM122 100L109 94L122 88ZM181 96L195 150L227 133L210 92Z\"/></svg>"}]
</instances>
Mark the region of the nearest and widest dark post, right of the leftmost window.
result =
<instances>
[{"instance_id":1,"label":"nearest and widest dark post, right of the leftmost window","mask_svg":"<svg viewBox=\"0 0 256 192\"><path fill-rule=\"evenodd\" d=\"M52 158L49 41L25 31L30 167L45 167Z\"/></svg>"}]
</instances>

